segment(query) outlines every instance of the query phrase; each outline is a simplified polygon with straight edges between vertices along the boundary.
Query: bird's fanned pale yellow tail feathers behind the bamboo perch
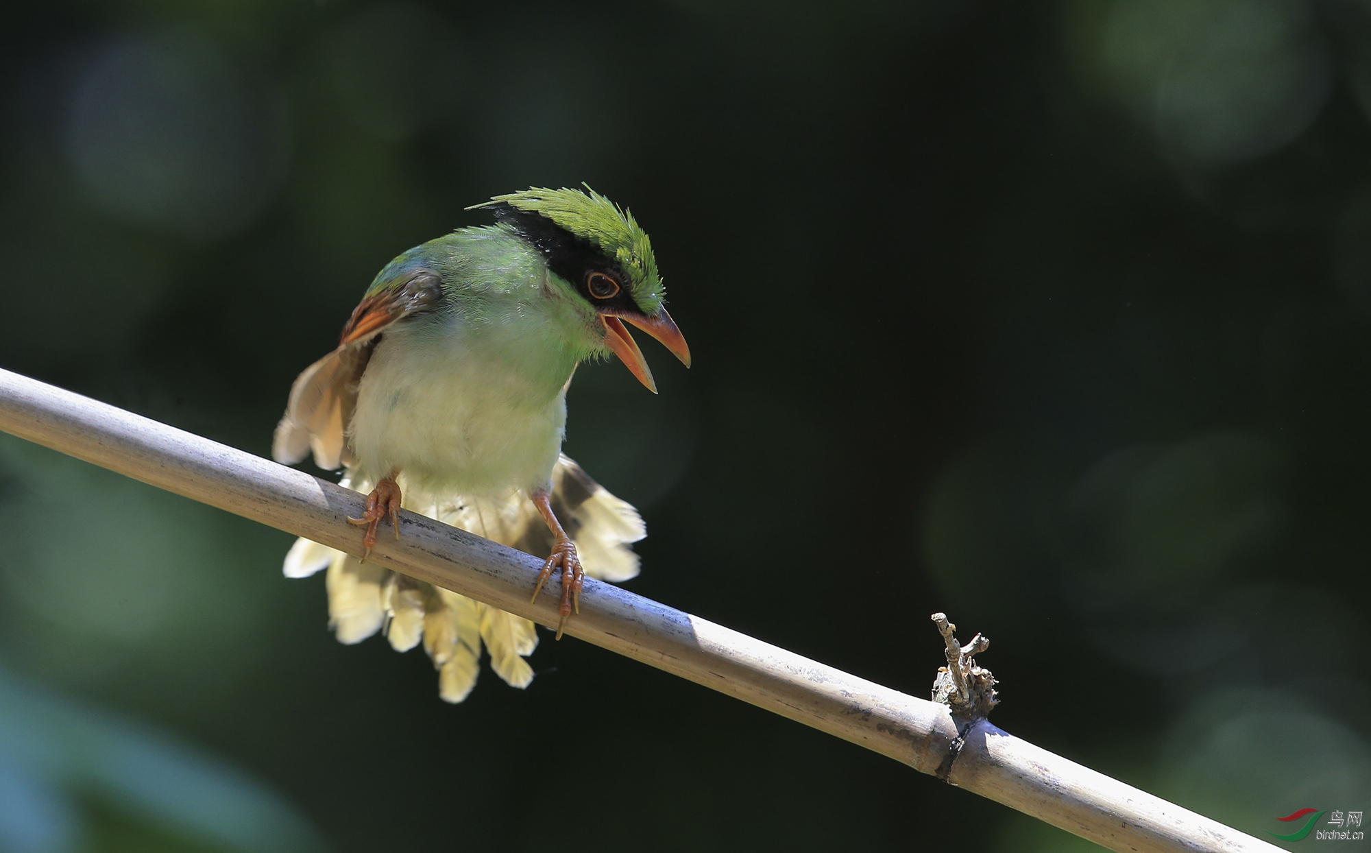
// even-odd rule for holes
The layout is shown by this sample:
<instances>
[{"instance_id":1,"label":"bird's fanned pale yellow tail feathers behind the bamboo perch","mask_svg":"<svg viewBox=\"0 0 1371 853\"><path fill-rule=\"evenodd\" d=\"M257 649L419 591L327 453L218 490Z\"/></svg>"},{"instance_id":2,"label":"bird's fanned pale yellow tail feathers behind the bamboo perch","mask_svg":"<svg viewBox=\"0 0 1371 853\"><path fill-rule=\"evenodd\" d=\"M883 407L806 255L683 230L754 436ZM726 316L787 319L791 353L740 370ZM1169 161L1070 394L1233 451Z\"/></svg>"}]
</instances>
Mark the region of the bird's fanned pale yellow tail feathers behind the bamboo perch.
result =
<instances>
[{"instance_id":1,"label":"bird's fanned pale yellow tail feathers behind the bamboo perch","mask_svg":"<svg viewBox=\"0 0 1371 853\"><path fill-rule=\"evenodd\" d=\"M370 488L350 476L341 484L363 492ZM631 546L647 535L638 510L565 455L553 469L551 505L576 543L587 575L610 581L638 575L638 555ZM553 549L547 524L533 502L520 494L502 501L448 495L430 505L406 502L404 507L535 557L547 557ZM296 540L282 568L287 577L306 577L325 566L329 625L339 640L355 643L384 629L396 651L422 642L439 671L443 699L461 702L476 686L483 643L491 669L505 683L528 687L533 680L533 669L524 660L537 646L529 620L307 539Z\"/></svg>"}]
</instances>

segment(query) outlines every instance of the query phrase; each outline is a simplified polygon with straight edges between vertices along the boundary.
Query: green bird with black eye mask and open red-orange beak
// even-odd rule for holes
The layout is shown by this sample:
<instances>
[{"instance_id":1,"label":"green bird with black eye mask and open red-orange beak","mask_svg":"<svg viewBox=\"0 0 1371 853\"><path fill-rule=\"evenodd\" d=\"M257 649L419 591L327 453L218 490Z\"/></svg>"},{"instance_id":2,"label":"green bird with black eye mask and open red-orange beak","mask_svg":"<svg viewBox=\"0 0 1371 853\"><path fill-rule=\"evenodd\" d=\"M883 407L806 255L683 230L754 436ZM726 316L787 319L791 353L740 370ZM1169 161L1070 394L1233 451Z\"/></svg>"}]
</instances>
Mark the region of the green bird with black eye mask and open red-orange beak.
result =
<instances>
[{"instance_id":1,"label":"green bird with black eye mask and open red-orange beak","mask_svg":"<svg viewBox=\"0 0 1371 853\"><path fill-rule=\"evenodd\" d=\"M400 651L422 640L452 702L474 686L483 643L506 682L526 686L533 624L367 564L378 528L389 521L399 538L403 505L546 557L533 599L558 573L561 638L584 575L632 577L629 546L646 535L632 506L561 453L572 373L614 354L655 394L625 322L690 366L651 243L627 210L588 187L474 208L495 224L411 248L376 276L339 347L296 379L271 447L288 465L313 451L319 468L347 469L344 485L370 492L350 518L366 528L363 555L302 539L287 576L326 566L337 638L384 629Z\"/></svg>"}]
</instances>

